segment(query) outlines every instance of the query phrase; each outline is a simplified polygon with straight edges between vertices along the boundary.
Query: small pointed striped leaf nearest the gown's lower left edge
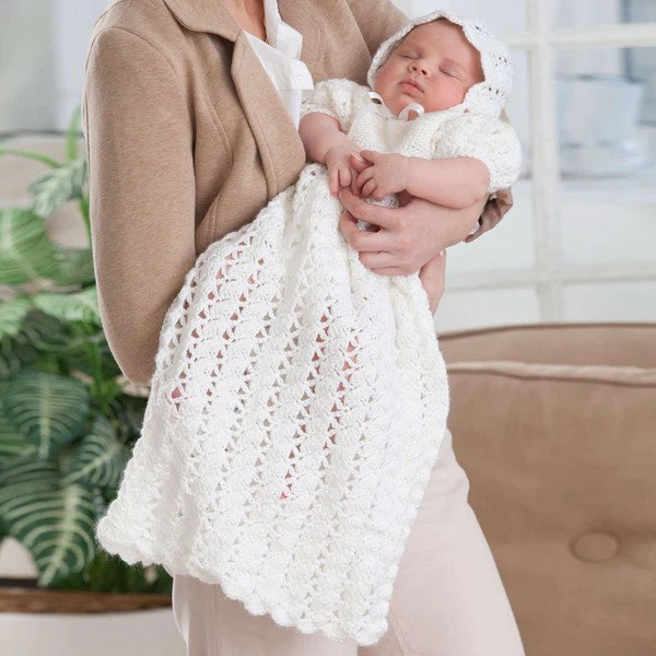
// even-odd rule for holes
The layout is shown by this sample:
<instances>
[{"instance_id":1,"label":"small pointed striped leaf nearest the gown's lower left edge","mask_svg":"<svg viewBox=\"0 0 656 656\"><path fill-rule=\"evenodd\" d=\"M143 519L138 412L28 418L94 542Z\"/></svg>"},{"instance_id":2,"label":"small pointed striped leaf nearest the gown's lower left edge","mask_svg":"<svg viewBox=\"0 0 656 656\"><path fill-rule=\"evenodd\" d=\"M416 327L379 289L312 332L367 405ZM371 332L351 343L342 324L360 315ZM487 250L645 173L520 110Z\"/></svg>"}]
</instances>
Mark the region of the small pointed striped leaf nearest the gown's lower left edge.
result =
<instances>
[{"instance_id":1,"label":"small pointed striped leaf nearest the gown's lower left edge","mask_svg":"<svg viewBox=\"0 0 656 656\"><path fill-rule=\"evenodd\" d=\"M65 483L85 483L98 488L119 483L130 453L116 437L114 426L103 415L96 417L89 434L73 456Z\"/></svg>"}]
</instances>

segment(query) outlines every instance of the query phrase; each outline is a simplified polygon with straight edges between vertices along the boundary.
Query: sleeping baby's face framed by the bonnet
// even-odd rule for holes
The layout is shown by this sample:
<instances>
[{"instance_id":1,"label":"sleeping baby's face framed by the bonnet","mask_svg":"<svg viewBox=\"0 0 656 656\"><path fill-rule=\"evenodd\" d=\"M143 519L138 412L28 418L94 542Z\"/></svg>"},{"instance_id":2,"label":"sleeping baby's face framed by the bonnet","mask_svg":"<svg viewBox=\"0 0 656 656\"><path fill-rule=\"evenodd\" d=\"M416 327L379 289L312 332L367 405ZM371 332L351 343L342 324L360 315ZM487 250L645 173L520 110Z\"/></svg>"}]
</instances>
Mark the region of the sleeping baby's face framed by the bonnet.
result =
<instances>
[{"instance_id":1,"label":"sleeping baby's face framed by the bonnet","mask_svg":"<svg viewBox=\"0 0 656 656\"><path fill-rule=\"evenodd\" d=\"M410 103L437 112L459 105L482 80L479 51L458 25L438 20L406 36L380 67L375 91L395 114Z\"/></svg>"}]
</instances>

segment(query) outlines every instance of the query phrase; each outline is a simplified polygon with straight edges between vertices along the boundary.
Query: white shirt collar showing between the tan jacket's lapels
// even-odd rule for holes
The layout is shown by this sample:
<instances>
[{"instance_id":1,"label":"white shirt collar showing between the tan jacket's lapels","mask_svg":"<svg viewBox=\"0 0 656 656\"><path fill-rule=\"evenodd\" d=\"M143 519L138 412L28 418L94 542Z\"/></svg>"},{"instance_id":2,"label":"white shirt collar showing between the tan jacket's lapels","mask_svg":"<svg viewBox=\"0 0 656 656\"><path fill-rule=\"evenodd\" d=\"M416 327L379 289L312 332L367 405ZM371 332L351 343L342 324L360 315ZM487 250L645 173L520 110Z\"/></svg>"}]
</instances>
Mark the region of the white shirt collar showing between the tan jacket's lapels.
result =
<instances>
[{"instance_id":1,"label":"white shirt collar showing between the tan jacket's lapels","mask_svg":"<svg viewBox=\"0 0 656 656\"><path fill-rule=\"evenodd\" d=\"M278 0L265 0L265 24L268 43L245 34L297 129L301 103L314 89L312 74L300 59L303 35L282 20Z\"/></svg>"}]
</instances>

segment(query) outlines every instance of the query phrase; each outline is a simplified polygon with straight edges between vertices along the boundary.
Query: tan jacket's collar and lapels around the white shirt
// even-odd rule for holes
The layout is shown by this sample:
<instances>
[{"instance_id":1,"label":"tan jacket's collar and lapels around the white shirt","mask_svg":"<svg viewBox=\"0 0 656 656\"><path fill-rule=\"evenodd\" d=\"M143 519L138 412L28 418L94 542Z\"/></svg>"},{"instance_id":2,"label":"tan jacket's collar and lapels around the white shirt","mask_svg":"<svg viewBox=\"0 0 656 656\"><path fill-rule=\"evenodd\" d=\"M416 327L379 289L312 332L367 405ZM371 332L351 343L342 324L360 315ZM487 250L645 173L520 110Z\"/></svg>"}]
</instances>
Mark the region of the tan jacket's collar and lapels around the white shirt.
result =
<instances>
[{"instance_id":1,"label":"tan jacket's collar and lapels around the white shirt","mask_svg":"<svg viewBox=\"0 0 656 656\"><path fill-rule=\"evenodd\" d=\"M234 42L231 74L260 155L272 198L292 184L305 162L305 151L278 91L261 67L222 0L164 0L187 30ZM320 25L298 0L280 0L280 14L303 34L301 58L312 72L319 54Z\"/></svg>"}]
</instances>

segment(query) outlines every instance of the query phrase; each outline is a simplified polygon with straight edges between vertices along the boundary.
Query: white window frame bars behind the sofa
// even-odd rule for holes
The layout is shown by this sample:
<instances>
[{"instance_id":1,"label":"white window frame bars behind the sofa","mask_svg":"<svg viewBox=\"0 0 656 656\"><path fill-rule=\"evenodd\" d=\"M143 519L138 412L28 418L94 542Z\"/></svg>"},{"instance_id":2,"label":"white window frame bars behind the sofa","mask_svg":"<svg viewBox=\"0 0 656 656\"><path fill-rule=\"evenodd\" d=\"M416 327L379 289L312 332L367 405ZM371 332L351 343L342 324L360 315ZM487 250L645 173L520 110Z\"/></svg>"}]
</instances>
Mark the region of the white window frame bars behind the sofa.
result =
<instances>
[{"instance_id":1,"label":"white window frame bars behind the sofa","mask_svg":"<svg viewBox=\"0 0 656 656\"><path fill-rule=\"evenodd\" d=\"M656 23L563 27L555 21L555 0L525 1L525 30L502 34L502 38L508 47L523 50L528 57L535 261L530 267L507 270L450 271L448 288L458 292L530 288L537 295L539 320L564 321L566 285L656 281L656 258L617 265L578 265L565 260L560 214L566 196L560 175L555 56L562 47L656 46ZM405 4L409 8L412 2Z\"/></svg>"}]
</instances>

